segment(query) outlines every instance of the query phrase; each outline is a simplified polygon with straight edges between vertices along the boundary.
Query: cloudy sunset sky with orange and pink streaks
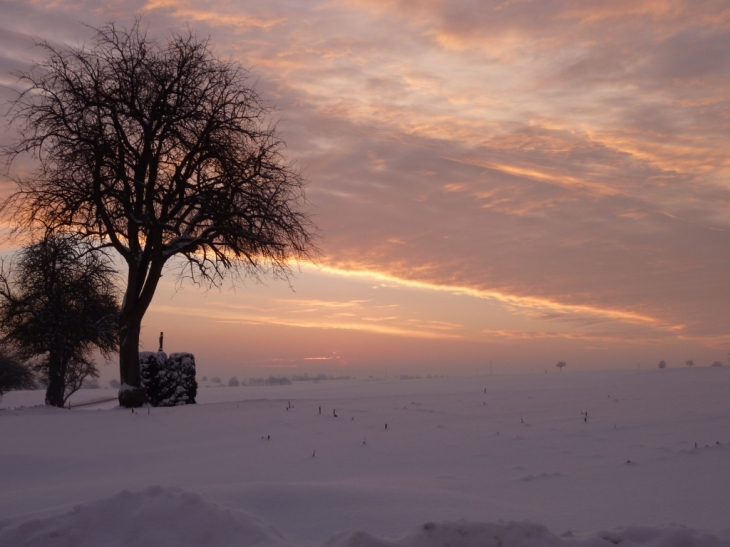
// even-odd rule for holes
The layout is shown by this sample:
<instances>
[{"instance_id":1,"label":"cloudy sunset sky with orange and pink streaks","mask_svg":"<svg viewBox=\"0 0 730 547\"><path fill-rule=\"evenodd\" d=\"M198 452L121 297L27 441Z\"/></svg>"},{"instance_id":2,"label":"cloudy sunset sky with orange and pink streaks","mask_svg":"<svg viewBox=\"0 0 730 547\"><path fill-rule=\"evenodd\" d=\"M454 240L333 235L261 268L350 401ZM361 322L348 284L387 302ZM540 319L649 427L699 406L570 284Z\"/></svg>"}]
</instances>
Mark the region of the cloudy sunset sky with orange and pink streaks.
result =
<instances>
[{"instance_id":1,"label":"cloudy sunset sky with orange and pink streaks","mask_svg":"<svg viewBox=\"0 0 730 547\"><path fill-rule=\"evenodd\" d=\"M250 69L306 174L315 264L163 277L143 349L201 371L684 366L730 350L730 2L0 0L34 41L141 17ZM4 132L0 140L12 139ZM12 184L3 182L7 195ZM6 252L9 243L5 243Z\"/></svg>"}]
</instances>

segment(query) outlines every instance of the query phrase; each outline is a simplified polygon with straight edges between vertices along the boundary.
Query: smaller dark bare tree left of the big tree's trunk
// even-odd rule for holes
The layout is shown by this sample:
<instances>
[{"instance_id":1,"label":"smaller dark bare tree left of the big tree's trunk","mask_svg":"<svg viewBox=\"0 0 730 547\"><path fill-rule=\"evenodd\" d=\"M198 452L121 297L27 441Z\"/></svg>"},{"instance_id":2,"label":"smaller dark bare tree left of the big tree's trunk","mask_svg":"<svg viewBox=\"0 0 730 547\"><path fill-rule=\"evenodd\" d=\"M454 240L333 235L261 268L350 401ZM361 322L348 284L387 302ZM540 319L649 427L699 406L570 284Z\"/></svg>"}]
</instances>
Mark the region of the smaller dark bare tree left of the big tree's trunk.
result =
<instances>
[{"instance_id":1,"label":"smaller dark bare tree left of the big tree's trunk","mask_svg":"<svg viewBox=\"0 0 730 547\"><path fill-rule=\"evenodd\" d=\"M63 406L87 377L90 355L118 346L118 292L103 253L71 235L25 247L0 271L0 338L47 382L46 404Z\"/></svg>"}]
</instances>

